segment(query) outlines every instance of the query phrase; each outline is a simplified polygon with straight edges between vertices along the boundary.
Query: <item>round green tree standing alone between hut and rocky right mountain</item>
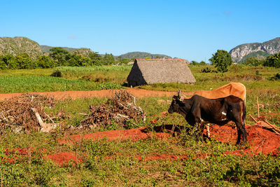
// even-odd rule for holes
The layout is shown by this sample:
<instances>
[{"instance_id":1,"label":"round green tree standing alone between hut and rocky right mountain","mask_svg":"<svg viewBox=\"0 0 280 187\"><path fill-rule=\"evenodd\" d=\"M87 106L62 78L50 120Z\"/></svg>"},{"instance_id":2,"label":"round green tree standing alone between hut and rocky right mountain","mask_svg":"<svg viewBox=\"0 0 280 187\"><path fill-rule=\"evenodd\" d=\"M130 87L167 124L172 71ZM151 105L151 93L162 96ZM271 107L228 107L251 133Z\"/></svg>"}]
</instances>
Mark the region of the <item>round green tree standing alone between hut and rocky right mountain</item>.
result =
<instances>
[{"instance_id":1,"label":"round green tree standing alone between hut and rocky right mountain","mask_svg":"<svg viewBox=\"0 0 280 187\"><path fill-rule=\"evenodd\" d=\"M232 64L232 57L226 50L217 50L215 55L209 59L210 62L217 68L217 71L226 72L228 67Z\"/></svg>"}]
</instances>

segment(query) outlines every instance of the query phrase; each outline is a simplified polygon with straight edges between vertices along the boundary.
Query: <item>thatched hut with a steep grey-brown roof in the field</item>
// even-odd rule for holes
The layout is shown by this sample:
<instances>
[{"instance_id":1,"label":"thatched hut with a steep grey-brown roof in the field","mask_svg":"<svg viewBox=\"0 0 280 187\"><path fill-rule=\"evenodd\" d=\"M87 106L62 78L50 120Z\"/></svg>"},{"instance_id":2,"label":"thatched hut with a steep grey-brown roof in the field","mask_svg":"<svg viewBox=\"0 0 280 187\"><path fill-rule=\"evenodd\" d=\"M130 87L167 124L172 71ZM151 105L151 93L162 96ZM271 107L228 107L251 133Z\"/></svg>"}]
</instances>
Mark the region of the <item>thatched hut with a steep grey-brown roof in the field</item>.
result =
<instances>
[{"instance_id":1,"label":"thatched hut with a steep grey-brown roof in the field","mask_svg":"<svg viewBox=\"0 0 280 187\"><path fill-rule=\"evenodd\" d=\"M130 86L153 83L195 83L195 77L183 59L136 59L127 76Z\"/></svg>"}]
</instances>

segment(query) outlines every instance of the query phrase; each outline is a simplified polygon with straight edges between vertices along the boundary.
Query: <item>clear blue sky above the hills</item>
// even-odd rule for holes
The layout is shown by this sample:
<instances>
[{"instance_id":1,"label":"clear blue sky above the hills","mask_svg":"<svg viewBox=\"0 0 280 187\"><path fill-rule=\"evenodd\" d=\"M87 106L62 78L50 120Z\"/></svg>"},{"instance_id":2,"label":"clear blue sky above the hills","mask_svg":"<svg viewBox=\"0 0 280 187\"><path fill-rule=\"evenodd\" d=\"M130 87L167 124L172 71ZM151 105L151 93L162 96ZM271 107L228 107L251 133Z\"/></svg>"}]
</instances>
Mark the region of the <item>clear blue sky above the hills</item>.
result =
<instances>
[{"instance_id":1,"label":"clear blue sky above the hills","mask_svg":"<svg viewBox=\"0 0 280 187\"><path fill-rule=\"evenodd\" d=\"M0 1L0 36L40 45L132 51L198 62L280 36L280 1Z\"/></svg>"}]
</instances>

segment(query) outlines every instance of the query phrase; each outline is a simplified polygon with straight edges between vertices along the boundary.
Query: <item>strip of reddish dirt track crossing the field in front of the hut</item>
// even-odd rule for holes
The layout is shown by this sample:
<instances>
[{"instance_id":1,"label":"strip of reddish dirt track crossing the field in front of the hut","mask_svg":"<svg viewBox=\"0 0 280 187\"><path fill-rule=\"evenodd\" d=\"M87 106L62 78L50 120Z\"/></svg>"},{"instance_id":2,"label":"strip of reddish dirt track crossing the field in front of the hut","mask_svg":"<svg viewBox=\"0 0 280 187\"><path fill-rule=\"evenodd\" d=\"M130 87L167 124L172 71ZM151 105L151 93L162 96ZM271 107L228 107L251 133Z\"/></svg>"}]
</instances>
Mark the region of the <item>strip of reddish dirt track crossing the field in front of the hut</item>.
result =
<instances>
[{"instance_id":1,"label":"strip of reddish dirt track crossing the field in front of the hut","mask_svg":"<svg viewBox=\"0 0 280 187\"><path fill-rule=\"evenodd\" d=\"M110 97L114 90L94 90L94 91L65 91L65 92L31 92L39 95L45 96L54 96L55 99L78 99L78 98L90 98L90 97ZM127 89L130 94L135 97L155 97L155 96L170 96L176 94L176 92L164 92L164 91L153 91L153 90L139 90L130 88ZM187 93L185 93L187 94ZM22 93L8 93L8 94L0 94L0 100L10 99L11 97L20 96Z\"/></svg>"}]
</instances>

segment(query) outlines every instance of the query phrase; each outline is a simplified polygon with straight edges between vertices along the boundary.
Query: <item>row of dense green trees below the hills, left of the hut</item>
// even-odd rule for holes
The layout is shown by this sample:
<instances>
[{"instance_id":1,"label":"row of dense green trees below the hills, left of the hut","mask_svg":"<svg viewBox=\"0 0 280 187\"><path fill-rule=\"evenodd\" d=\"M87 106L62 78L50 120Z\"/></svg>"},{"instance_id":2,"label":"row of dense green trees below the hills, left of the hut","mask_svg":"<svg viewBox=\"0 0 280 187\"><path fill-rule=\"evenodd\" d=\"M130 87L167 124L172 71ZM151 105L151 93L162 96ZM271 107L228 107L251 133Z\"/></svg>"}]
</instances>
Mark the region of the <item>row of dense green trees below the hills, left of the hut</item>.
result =
<instances>
[{"instance_id":1,"label":"row of dense green trees below the hills, left of the hut","mask_svg":"<svg viewBox=\"0 0 280 187\"><path fill-rule=\"evenodd\" d=\"M94 65L127 64L131 59L118 59L112 54L105 54L103 57L96 52L87 56L71 54L63 48L51 48L48 55L43 55L33 60L27 53L13 56L0 55L0 69L36 69L52 68L59 66L86 67Z\"/></svg>"}]
</instances>

